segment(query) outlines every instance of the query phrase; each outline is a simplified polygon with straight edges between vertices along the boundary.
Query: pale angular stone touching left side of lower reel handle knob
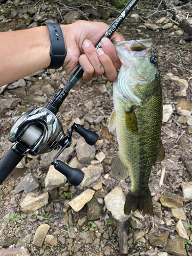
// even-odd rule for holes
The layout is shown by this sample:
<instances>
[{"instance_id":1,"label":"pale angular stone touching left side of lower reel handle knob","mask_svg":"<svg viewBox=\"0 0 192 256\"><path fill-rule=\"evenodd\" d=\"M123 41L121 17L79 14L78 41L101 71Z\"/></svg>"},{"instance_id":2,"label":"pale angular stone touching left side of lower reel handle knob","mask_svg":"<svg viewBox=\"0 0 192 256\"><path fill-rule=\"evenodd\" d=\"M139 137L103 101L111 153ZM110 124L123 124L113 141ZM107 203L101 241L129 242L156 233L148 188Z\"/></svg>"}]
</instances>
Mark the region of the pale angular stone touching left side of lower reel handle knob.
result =
<instances>
[{"instance_id":1,"label":"pale angular stone touching left side of lower reel handle knob","mask_svg":"<svg viewBox=\"0 0 192 256\"><path fill-rule=\"evenodd\" d=\"M45 186L47 190L52 190L56 187L61 187L67 182L66 176L58 172L53 165L49 167L49 171L45 178Z\"/></svg>"}]
</instances>

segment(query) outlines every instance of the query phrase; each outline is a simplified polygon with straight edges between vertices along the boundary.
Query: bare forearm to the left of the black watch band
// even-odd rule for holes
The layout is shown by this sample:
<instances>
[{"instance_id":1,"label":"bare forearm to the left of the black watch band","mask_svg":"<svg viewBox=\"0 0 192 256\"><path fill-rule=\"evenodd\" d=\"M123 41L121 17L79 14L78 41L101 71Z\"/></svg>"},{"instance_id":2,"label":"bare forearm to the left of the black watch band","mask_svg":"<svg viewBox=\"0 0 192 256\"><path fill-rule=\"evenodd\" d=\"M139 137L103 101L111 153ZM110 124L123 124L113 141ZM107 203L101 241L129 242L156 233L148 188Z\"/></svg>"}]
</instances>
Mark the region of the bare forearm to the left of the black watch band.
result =
<instances>
[{"instance_id":1,"label":"bare forearm to the left of the black watch band","mask_svg":"<svg viewBox=\"0 0 192 256\"><path fill-rule=\"evenodd\" d=\"M47 26L0 33L0 86L50 65Z\"/></svg>"}]
</instances>

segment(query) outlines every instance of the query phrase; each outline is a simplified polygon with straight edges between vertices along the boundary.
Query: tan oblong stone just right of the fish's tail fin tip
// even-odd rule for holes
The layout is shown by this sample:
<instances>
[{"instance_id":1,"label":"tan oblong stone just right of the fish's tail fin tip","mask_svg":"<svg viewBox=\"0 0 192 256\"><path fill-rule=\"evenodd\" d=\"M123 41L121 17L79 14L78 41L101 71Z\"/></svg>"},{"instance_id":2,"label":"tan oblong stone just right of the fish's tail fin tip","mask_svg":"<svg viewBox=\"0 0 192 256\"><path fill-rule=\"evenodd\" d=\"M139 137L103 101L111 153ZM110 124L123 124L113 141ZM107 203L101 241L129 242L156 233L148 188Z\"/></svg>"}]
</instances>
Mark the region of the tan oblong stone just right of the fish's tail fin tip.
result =
<instances>
[{"instance_id":1,"label":"tan oblong stone just right of the fish's tail fin tip","mask_svg":"<svg viewBox=\"0 0 192 256\"><path fill-rule=\"evenodd\" d=\"M160 202L163 206L168 208L179 208L183 206L183 200L184 198L170 193L170 192L163 192L160 196Z\"/></svg>"}]
</instances>

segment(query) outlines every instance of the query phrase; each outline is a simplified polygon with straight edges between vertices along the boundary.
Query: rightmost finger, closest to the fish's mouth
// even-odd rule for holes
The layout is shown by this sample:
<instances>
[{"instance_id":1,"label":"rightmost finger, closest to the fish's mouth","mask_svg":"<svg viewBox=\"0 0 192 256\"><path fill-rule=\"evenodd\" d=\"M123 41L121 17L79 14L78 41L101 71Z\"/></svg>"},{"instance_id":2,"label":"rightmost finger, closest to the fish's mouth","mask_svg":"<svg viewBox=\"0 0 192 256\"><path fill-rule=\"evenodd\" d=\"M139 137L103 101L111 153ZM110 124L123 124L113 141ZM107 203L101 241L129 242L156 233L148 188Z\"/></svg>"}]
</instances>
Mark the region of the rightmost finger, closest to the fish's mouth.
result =
<instances>
[{"instance_id":1,"label":"rightmost finger, closest to the fish's mouth","mask_svg":"<svg viewBox=\"0 0 192 256\"><path fill-rule=\"evenodd\" d=\"M115 46L112 44L110 39L106 37L102 38L101 47L103 51L112 59L114 67L116 69L119 69L121 67L121 61L119 60L115 50Z\"/></svg>"}]
</instances>

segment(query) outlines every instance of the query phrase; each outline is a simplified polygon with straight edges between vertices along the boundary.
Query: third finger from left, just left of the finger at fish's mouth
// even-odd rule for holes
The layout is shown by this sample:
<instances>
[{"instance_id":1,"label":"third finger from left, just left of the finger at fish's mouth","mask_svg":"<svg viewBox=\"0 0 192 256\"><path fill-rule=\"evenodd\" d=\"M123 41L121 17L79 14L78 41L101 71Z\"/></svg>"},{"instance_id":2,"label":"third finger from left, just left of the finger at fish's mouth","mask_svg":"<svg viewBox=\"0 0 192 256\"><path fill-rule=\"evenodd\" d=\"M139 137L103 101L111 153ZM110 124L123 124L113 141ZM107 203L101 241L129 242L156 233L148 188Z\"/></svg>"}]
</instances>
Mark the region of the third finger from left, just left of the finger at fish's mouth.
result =
<instances>
[{"instance_id":1,"label":"third finger from left, just left of the finger at fish's mouth","mask_svg":"<svg viewBox=\"0 0 192 256\"><path fill-rule=\"evenodd\" d=\"M110 81L114 81L117 77L117 70L114 67L113 61L104 51L100 48L97 50L99 60L104 68L104 76Z\"/></svg>"}]
</instances>

